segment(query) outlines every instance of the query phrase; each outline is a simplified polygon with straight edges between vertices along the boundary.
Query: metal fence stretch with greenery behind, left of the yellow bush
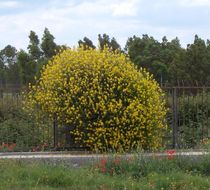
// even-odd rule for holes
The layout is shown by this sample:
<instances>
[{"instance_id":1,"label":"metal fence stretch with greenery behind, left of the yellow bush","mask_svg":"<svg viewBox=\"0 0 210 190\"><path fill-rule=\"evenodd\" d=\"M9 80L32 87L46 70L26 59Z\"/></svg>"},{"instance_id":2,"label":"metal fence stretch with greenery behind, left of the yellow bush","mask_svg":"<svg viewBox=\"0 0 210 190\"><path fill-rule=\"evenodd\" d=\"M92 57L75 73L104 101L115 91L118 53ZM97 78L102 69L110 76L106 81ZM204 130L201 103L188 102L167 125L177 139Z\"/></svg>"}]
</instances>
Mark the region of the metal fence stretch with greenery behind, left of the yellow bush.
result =
<instances>
[{"instance_id":1,"label":"metal fence stretch with greenery behind, left of the yellow bush","mask_svg":"<svg viewBox=\"0 0 210 190\"><path fill-rule=\"evenodd\" d=\"M0 86L0 151L36 151L52 148L52 123L37 121L22 109L23 88Z\"/></svg>"}]
</instances>

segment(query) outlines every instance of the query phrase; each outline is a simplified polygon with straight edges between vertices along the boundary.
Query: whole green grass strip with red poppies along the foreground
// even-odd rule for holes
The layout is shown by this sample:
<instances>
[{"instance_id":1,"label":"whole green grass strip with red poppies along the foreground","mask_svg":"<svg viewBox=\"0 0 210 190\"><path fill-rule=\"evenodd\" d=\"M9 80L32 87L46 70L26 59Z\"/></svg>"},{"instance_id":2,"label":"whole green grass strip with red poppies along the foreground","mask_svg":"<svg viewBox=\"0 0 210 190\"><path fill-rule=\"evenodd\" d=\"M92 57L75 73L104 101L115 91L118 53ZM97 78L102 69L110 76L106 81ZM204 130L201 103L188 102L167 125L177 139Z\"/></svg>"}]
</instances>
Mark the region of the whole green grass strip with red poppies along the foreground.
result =
<instances>
[{"instance_id":1,"label":"whole green grass strip with red poppies along the foreground","mask_svg":"<svg viewBox=\"0 0 210 190\"><path fill-rule=\"evenodd\" d=\"M210 156L113 156L81 168L0 160L0 189L204 190L210 189Z\"/></svg>"}]
</instances>

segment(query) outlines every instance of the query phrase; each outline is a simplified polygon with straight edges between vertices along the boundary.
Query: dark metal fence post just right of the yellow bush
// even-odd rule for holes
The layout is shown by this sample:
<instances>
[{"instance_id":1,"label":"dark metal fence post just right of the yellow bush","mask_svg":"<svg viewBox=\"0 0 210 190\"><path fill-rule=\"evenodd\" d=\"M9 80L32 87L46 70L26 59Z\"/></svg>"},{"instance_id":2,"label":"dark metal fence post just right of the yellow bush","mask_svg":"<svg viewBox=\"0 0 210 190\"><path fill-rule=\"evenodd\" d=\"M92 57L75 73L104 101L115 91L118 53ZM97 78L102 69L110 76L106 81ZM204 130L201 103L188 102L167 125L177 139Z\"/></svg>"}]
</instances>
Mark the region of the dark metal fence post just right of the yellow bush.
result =
<instances>
[{"instance_id":1,"label":"dark metal fence post just right of the yellow bush","mask_svg":"<svg viewBox=\"0 0 210 190\"><path fill-rule=\"evenodd\" d=\"M177 116L177 88L172 88L172 111L173 111L173 119L172 119L172 148L178 148L178 116Z\"/></svg>"}]
</instances>

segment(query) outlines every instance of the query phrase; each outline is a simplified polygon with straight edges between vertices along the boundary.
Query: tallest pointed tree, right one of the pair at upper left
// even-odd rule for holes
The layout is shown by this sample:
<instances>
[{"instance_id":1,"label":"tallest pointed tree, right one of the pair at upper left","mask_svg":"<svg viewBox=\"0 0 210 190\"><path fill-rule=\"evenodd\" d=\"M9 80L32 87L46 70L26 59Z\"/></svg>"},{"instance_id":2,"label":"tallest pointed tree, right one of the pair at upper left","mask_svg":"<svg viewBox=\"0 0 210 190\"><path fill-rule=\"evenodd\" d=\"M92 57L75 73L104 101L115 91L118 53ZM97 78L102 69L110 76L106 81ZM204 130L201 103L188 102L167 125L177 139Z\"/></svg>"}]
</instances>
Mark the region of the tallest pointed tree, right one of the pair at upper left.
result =
<instances>
[{"instance_id":1,"label":"tallest pointed tree, right one of the pair at upper left","mask_svg":"<svg viewBox=\"0 0 210 190\"><path fill-rule=\"evenodd\" d=\"M54 42L54 39L55 38L50 33L50 31L47 28L45 28L44 34L42 37L41 49L46 59L50 59L56 54L57 45Z\"/></svg>"}]
</instances>

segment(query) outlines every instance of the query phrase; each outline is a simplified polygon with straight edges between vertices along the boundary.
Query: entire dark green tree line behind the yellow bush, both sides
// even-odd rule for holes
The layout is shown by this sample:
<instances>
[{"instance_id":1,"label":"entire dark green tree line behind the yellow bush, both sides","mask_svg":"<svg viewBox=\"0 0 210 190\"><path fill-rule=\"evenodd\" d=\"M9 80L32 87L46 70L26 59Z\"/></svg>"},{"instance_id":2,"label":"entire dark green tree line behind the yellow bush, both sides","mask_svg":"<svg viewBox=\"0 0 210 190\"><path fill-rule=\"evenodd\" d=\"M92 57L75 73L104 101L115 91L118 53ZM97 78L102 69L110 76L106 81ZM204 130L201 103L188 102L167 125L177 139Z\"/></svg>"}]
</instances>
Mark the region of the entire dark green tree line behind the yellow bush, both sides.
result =
<instances>
[{"instance_id":1,"label":"entire dark green tree line behind the yellow bush, both sides","mask_svg":"<svg viewBox=\"0 0 210 190\"><path fill-rule=\"evenodd\" d=\"M78 41L83 48L96 48L87 37ZM210 40L195 35L194 42L183 48L179 39L162 41L147 34L129 37L125 47L107 34L98 35L98 48L108 46L113 51L125 53L134 64L146 68L161 85L209 85L210 84ZM0 85L26 86L34 82L41 68L60 49L67 46L55 43L55 37L45 28L41 40L30 31L27 50L17 50L7 45L0 50Z\"/></svg>"}]
</instances>

